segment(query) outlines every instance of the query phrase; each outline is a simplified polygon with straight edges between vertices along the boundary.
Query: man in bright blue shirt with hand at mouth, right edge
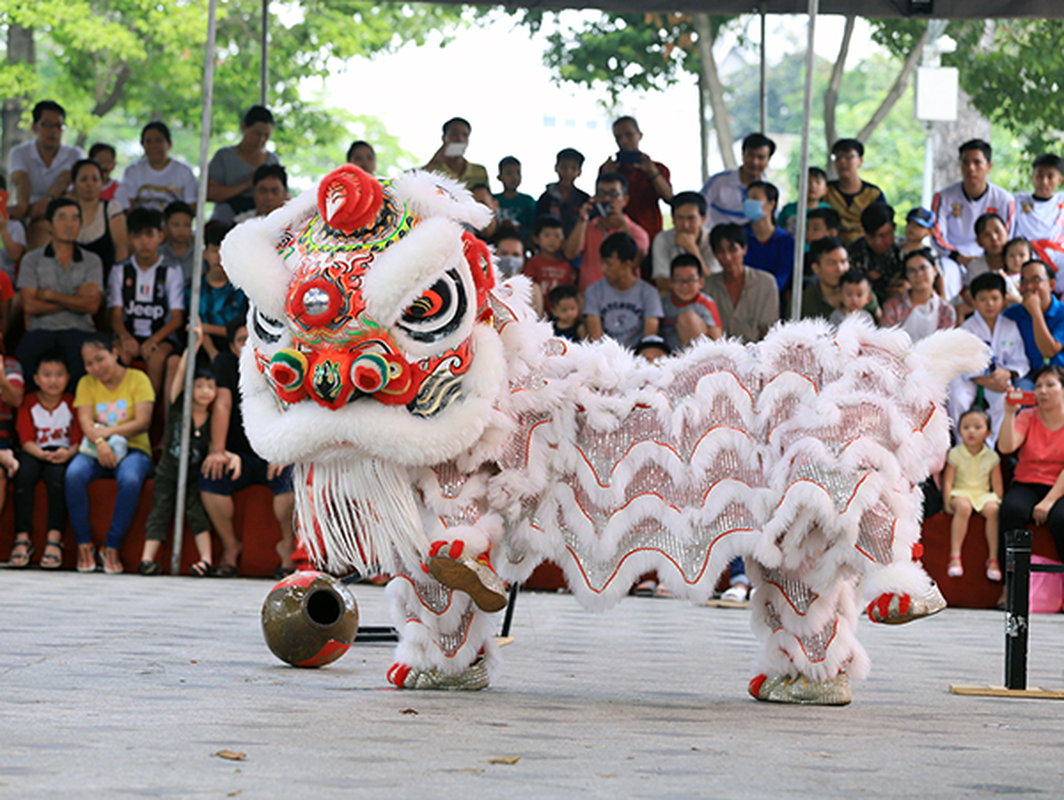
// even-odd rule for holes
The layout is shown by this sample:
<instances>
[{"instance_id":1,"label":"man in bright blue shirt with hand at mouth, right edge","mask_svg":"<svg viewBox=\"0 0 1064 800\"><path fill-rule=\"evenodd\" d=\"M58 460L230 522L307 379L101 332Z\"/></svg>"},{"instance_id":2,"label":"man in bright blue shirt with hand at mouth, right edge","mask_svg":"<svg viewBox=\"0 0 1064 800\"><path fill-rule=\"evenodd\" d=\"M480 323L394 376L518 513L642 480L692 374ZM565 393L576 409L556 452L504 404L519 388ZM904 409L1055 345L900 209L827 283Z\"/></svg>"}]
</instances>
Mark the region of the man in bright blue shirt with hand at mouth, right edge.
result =
<instances>
[{"instance_id":1,"label":"man in bright blue shirt with hand at mouth, right edge","mask_svg":"<svg viewBox=\"0 0 1064 800\"><path fill-rule=\"evenodd\" d=\"M1024 301L1010 305L1002 316L1019 328L1031 371L1047 364L1064 367L1064 303L1053 297L1057 271L1041 261L1029 261L1019 271L1019 294ZM1034 389L1024 378L1017 388Z\"/></svg>"}]
</instances>

